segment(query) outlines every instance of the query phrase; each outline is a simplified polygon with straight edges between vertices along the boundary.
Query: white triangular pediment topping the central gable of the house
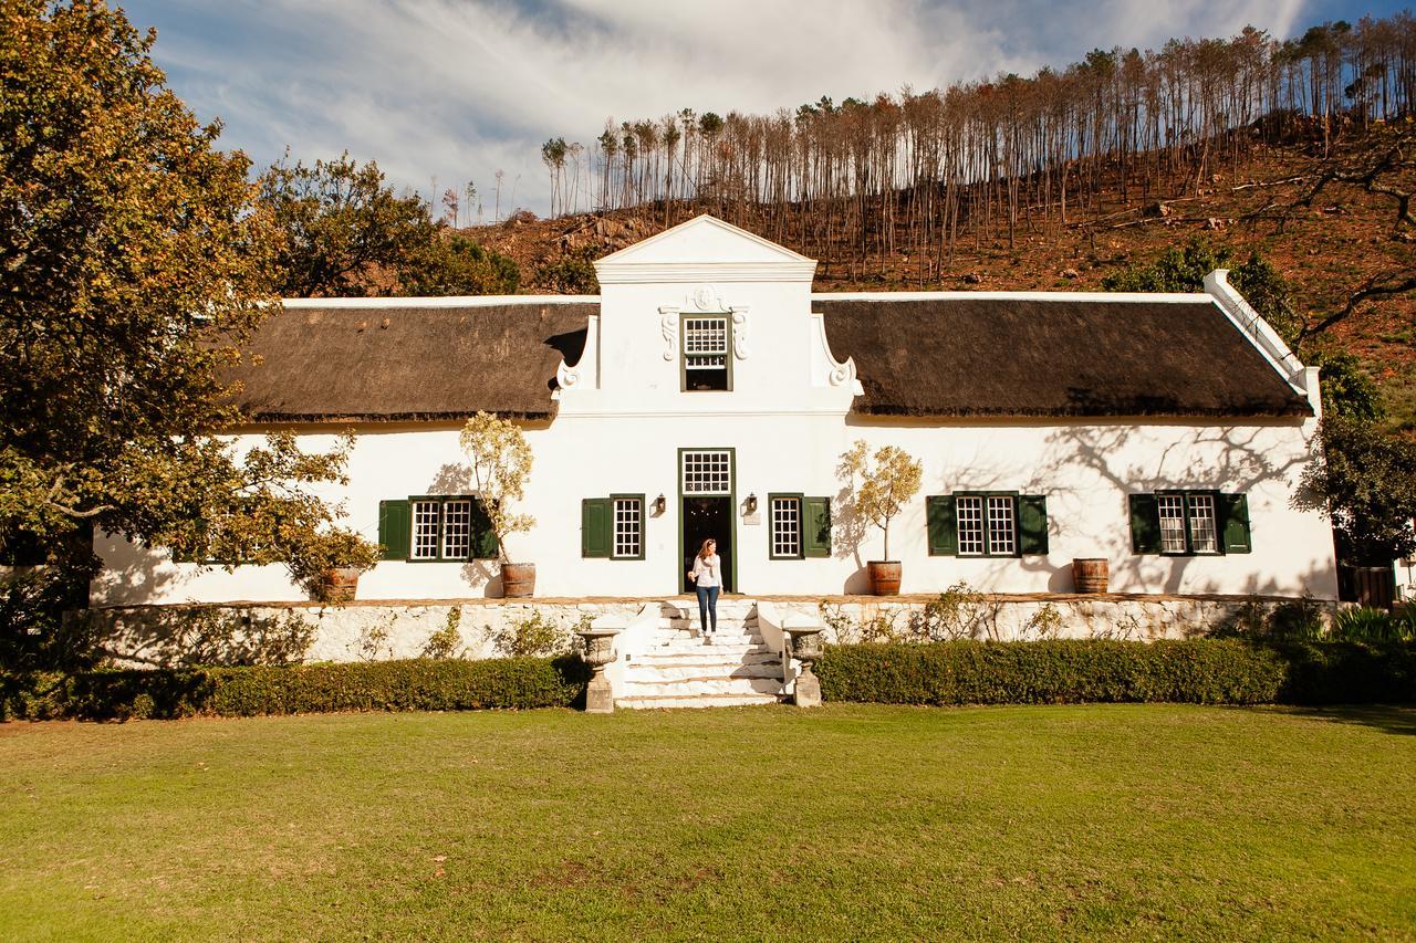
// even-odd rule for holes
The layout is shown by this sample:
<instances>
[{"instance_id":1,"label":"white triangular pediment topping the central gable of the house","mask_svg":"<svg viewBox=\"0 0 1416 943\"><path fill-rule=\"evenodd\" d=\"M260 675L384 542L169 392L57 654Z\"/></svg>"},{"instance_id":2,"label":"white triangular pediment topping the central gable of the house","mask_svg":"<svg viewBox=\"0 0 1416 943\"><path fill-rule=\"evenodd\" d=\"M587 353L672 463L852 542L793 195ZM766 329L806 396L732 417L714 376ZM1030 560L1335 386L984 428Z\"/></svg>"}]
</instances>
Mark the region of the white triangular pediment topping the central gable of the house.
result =
<instances>
[{"instance_id":1,"label":"white triangular pediment topping the central gable of the house","mask_svg":"<svg viewBox=\"0 0 1416 943\"><path fill-rule=\"evenodd\" d=\"M595 263L602 283L810 282L816 261L709 215L636 242Z\"/></svg>"}]
</instances>

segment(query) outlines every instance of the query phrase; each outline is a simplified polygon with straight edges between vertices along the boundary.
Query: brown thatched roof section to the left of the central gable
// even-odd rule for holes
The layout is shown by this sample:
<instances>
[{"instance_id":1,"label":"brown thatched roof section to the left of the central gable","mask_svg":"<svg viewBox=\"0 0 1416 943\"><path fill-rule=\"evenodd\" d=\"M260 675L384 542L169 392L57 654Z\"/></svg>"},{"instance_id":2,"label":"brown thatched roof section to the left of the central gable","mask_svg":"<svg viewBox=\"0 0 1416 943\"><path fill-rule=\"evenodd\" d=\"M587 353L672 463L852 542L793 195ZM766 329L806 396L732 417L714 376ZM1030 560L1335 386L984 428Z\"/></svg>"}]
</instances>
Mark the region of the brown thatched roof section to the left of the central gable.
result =
<instances>
[{"instance_id":1,"label":"brown thatched roof section to the left of the central gable","mask_svg":"<svg viewBox=\"0 0 1416 943\"><path fill-rule=\"evenodd\" d=\"M232 371L258 422L544 419L555 370L579 361L595 303L287 306Z\"/></svg>"}]
</instances>

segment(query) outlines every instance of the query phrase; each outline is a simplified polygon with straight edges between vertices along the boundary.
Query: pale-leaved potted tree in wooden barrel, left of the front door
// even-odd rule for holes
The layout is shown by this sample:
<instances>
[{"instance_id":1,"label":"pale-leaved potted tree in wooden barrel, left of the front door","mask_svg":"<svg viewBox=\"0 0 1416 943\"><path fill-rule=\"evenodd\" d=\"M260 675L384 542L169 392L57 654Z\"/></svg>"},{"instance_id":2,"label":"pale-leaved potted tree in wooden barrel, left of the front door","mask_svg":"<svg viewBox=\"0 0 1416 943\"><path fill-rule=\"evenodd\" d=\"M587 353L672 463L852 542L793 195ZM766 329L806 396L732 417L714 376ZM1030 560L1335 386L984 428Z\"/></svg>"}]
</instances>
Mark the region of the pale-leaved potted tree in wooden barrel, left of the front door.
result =
<instances>
[{"instance_id":1,"label":"pale-leaved potted tree in wooden barrel, left of the front door","mask_svg":"<svg viewBox=\"0 0 1416 943\"><path fill-rule=\"evenodd\" d=\"M535 518L513 514L511 503L525 497L531 477L531 446L521 428L508 419L477 412L462 430L462 447L472 464L472 480L481 500L501 564L501 595L510 598L535 593L535 564L514 564L507 554L507 537L530 531Z\"/></svg>"}]
</instances>

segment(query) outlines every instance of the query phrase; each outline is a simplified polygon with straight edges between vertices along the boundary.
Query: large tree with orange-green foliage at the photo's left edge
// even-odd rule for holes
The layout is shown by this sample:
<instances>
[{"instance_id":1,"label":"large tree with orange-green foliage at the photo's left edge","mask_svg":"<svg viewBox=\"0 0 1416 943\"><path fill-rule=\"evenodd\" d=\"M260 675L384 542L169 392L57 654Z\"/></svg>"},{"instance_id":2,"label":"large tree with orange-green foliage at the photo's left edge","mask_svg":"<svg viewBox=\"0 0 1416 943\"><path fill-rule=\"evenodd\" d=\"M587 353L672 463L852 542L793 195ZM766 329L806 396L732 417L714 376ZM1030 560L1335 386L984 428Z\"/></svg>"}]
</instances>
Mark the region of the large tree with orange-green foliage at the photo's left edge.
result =
<instances>
[{"instance_id":1,"label":"large tree with orange-green foliage at the photo's left edge","mask_svg":"<svg viewBox=\"0 0 1416 943\"><path fill-rule=\"evenodd\" d=\"M47 564L0 588L11 660L84 603L95 528L297 571L348 541L306 488L348 443L214 436L239 419L222 368L273 310L273 231L154 41L98 0L0 0L0 551Z\"/></svg>"}]
</instances>

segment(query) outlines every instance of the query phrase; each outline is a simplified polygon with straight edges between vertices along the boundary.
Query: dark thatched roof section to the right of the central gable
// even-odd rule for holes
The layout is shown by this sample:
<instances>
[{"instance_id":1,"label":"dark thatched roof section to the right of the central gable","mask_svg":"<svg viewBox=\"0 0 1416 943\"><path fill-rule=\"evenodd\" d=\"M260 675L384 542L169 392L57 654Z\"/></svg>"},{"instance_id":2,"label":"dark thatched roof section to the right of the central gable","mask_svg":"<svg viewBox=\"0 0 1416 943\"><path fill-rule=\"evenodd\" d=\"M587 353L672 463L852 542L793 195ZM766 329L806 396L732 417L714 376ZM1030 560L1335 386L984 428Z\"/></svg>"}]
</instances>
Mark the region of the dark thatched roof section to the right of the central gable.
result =
<instances>
[{"instance_id":1,"label":"dark thatched roof section to the right of the central gable","mask_svg":"<svg viewBox=\"0 0 1416 943\"><path fill-rule=\"evenodd\" d=\"M903 416L1293 416L1297 394L1197 299L814 296L852 412Z\"/></svg>"}]
</instances>

